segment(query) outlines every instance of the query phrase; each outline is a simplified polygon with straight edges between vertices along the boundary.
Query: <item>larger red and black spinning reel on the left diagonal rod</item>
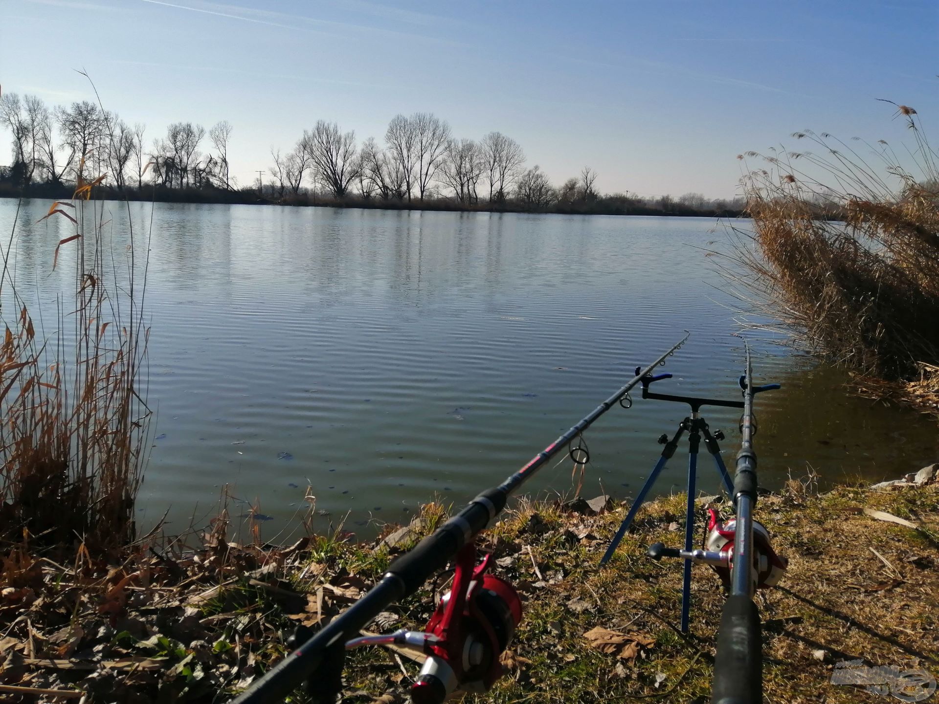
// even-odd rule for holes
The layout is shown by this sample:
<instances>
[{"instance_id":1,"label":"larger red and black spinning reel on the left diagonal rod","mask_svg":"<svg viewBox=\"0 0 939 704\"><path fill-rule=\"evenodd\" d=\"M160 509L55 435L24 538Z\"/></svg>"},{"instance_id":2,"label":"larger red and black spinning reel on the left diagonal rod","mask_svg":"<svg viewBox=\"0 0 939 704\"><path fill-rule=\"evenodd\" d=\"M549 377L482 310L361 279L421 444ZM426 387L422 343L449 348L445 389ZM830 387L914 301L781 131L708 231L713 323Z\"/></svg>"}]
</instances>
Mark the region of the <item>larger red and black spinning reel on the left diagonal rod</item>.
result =
<instances>
[{"instance_id":1,"label":"larger red and black spinning reel on the left diagonal rod","mask_svg":"<svg viewBox=\"0 0 939 704\"><path fill-rule=\"evenodd\" d=\"M425 631L400 630L346 642L346 650L394 644L427 655L411 686L414 704L440 704L457 691L485 692L502 675L499 658L522 619L516 589L487 574L491 555L476 565L476 546L456 556L453 587L440 599Z\"/></svg>"}]
</instances>

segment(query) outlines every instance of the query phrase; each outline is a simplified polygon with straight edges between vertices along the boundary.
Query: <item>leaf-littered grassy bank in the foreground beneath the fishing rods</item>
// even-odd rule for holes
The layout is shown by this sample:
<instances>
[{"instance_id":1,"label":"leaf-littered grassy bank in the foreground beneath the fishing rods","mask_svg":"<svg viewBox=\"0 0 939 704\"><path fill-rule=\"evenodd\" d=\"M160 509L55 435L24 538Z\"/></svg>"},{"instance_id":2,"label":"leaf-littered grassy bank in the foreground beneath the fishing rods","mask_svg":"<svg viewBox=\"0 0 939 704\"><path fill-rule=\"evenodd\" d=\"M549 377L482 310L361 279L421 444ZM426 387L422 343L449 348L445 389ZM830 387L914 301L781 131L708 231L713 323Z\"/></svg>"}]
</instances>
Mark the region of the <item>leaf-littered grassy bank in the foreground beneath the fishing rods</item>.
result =
<instances>
[{"instance_id":1,"label":"leaf-littered grassy bank in the foreground beneath the fishing rods","mask_svg":"<svg viewBox=\"0 0 939 704\"><path fill-rule=\"evenodd\" d=\"M841 660L939 675L936 485L840 486L821 496L812 489L790 482L759 506L777 551L790 559L780 587L758 600L766 700L883 701L863 688L829 683ZM600 556L625 509L615 504L585 514L521 500L485 533L483 546L498 559L497 574L521 591L525 616L503 658L508 676L469 700L706 700L719 581L706 567L694 569L692 629L683 635L677 630L680 565L644 555L648 543L681 543L684 497L646 504L635 531L601 569ZM864 509L916 528L877 520ZM225 537L225 513L205 533L149 536L108 558L80 549L65 562L61 553L46 558L25 543L8 547L0 577L5 700L32 700L11 685L84 692L86 702L224 700L283 657L297 623L319 627L354 603L394 554L445 513L439 504L425 506L395 547L355 543L337 532L275 548L257 541L250 521L232 541ZM441 575L371 628L423 626L432 589L445 589L446 582ZM596 627L635 646L586 638ZM383 650L355 650L345 700L397 701L417 669Z\"/></svg>"}]
</instances>

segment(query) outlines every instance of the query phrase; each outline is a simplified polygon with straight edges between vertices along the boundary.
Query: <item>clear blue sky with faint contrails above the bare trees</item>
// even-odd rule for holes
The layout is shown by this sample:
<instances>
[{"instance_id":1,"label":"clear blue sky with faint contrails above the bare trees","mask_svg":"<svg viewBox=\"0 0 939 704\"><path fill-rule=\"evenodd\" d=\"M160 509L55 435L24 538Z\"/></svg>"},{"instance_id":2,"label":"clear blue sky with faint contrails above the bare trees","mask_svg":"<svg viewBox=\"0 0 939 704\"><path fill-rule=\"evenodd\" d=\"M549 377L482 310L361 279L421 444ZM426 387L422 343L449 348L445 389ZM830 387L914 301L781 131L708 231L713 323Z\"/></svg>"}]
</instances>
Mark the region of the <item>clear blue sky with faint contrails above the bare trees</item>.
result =
<instances>
[{"instance_id":1,"label":"clear blue sky with faint contrails above the bare trees","mask_svg":"<svg viewBox=\"0 0 939 704\"><path fill-rule=\"evenodd\" d=\"M92 97L72 69L148 140L229 120L242 183L319 118L380 141L429 111L556 183L729 197L735 156L795 130L900 142L878 98L939 123L939 2L0 0L4 91Z\"/></svg>"}]
</instances>

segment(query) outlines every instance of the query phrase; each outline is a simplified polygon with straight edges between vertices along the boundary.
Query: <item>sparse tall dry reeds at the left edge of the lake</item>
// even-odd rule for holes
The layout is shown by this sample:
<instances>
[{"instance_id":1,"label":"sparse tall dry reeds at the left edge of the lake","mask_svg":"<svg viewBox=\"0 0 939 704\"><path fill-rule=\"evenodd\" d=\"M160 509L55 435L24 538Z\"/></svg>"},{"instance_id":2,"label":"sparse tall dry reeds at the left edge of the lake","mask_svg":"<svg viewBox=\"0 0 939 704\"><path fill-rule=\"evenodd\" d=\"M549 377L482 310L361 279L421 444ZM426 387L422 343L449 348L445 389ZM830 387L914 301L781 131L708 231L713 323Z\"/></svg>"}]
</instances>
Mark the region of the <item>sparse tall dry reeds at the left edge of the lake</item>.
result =
<instances>
[{"instance_id":1,"label":"sparse tall dry reeds at the left edge of the lake","mask_svg":"<svg viewBox=\"0 0 939 704\"><path fill-rule=\"evenodd\" d=\"M50 236L61 234L55 224L67 233L38 275L70 269L54 321L37 325L39 301L17 285L22 203L0 244L0 534L10 541L110 546L134 533L151 419L146 255L137 254L148 243L135 241L130 210L125 230L92 200L101 180L80 181L43 218Z\"/></svg>"}]
</instances>

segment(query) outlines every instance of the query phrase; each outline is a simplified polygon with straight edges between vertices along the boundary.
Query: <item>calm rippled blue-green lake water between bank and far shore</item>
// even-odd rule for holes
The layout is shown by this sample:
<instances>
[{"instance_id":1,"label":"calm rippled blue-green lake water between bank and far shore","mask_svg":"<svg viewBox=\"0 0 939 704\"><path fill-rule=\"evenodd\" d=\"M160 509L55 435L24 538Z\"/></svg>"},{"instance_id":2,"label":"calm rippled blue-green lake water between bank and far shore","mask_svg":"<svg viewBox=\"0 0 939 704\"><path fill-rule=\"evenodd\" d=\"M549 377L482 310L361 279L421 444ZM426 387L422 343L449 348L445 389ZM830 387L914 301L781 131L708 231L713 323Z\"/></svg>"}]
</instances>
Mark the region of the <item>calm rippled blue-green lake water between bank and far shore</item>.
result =
<instances>
[{"instance_id":1,"label":"calm rippled blue-green lake water between bank and far shore","mask_svg":"<svg viewBox=\"0 0 939 704\"><path fill-rule=\"evenodd\" d=\"M0 200L3 232L16 205ZM18 282L51 313L67 281L50 273L54 247L69 223L37 223L49 205L23 204L14 248ZM108 207L116 233L127 209ZM225 483L259 502L269 533L303 506L307 483L330 513L324 526L350 512L346 526L365 532L435 495L461 503L683 329L691 338L661 370L675 378L657 390L739 398L734 301L701 249L724 237L713 220L131 204L138 231L151 209L158 425L145 528L167 508L171 529L184 528ZM939 453L933 421L847 395L838 371L765 343L754 366L783 385L758 402L767 486L808 464L825 481L894 478ZM588 497L635 493L661 450L655 438L687 414L636 395L586 435ZM731 466L738 415L705 409L728 436ZM685 451L659 493L684 486ZM700 488L716 490L701 460ZM551 464L531 490L569 493L571 463Z\"/></svg>"}]
</instances>

